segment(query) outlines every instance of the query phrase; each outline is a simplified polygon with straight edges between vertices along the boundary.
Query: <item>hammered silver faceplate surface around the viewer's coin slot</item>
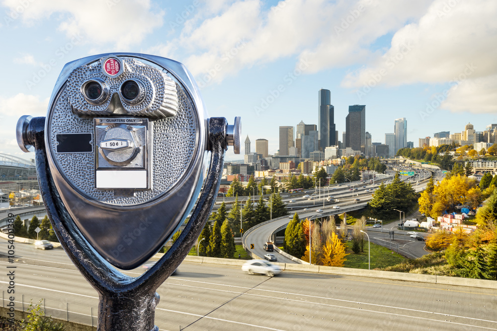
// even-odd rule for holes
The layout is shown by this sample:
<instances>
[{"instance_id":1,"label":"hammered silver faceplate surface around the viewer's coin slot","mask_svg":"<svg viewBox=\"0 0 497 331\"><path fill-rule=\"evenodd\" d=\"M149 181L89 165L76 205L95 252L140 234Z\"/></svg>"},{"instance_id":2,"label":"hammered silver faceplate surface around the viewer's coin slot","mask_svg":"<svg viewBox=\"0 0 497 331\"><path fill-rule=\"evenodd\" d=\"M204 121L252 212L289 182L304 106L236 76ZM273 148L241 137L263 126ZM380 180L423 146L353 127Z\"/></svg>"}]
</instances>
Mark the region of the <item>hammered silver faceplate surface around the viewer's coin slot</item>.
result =
<instances>
[{"instance_id":1,"label":"hammered silver faceplate surface around the viewer's coin slot","mask_svg":"<svg viewBox=\"0 0 497 331\"><path fill-rule=\"evenodd\" d=\"M47 136L53 158L72 187L81 194L104 203L135 205L156 199L166 193L186 174L199 144L199 119L192 101L179 89L179 107L176 116L154 121L151 151L152 190L138 191L133 197L115 197L111 190L94 188L95 157L92 153L57 154L56 134L93 132L93 119L82 118L71 112L67 88L54 102L49 118ZM177 151L180 151L178 153Z\"/></svg>"}]
</instances>

